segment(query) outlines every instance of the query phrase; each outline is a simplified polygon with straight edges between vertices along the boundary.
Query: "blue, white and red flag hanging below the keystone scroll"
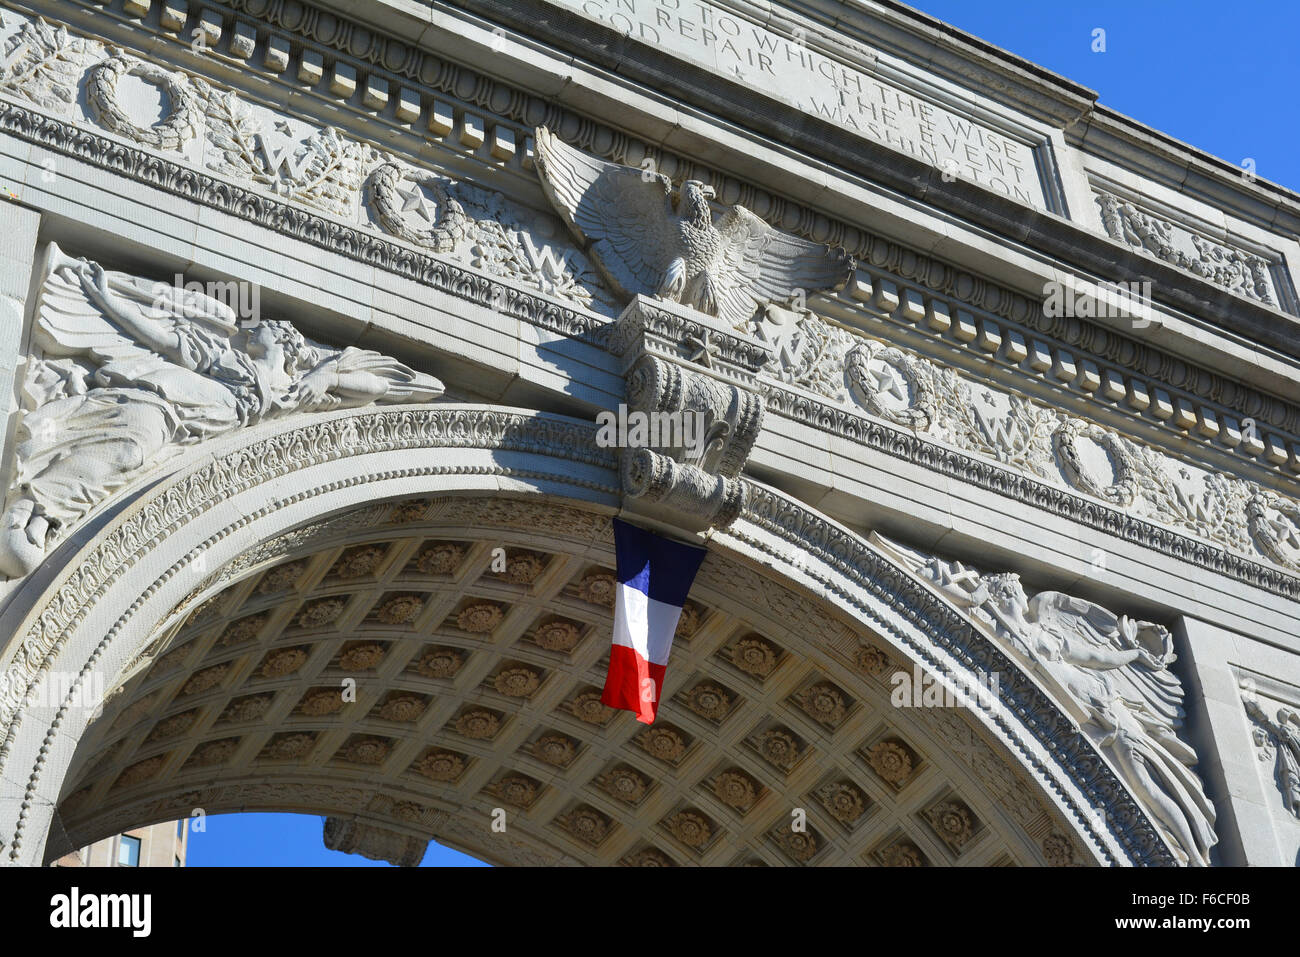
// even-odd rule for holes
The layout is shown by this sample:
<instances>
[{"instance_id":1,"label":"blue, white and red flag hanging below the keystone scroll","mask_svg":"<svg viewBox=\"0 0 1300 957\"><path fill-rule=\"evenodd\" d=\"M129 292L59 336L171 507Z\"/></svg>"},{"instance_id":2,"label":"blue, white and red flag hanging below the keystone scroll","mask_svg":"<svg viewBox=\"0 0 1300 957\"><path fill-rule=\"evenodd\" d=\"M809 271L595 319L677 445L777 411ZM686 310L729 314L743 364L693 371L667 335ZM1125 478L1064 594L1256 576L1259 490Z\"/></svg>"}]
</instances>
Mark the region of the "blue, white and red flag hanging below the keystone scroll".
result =
<instances>
[{"instance_id":1,"label":"blue, white and red flag hanging below the keystone scroll","mask_svg":"<svg viewBox=\"0 0 1300 957\"><path fill-rule=\"evenodd\" d=\"M681 606L706 549L614 520L619 593L614 646L601 701L653 724Z\"/></svg>"}]
</instances>

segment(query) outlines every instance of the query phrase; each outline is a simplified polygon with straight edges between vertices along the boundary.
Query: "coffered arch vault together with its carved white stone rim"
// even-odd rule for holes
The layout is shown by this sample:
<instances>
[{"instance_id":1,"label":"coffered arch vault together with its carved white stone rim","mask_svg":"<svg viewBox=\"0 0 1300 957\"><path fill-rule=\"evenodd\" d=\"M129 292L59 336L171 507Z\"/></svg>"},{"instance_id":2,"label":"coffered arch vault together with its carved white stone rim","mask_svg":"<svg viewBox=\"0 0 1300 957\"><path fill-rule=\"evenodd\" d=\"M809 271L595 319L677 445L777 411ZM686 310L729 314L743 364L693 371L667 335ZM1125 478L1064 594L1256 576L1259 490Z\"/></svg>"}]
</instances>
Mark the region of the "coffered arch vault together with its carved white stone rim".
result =
<instances>
[{"instance_id":1,"label":"coffered arch vault together with its carved white stone rim","mask_svg":"<svg viewBox=\"0 0 1300 957\"><path fill-rule=\"evenodd\" d=\"M1069 720L1015 666L854 533L759 486L710 542L655 724L601 707L616 499L590 429L338 413L131 492L6 664L107 683L88 718L65 702L10 724L0 758L26 791L8 859L199 810L324 814L333 846L402 862L430 839L497 863L1152 858L1095 753L1031 740ZM764 550L781 523L797 532ZM914 666L1001 670L1001 718L892 706ZM1126 857L1135 832L1148 844Z\"/></svg>"}]
</instances>

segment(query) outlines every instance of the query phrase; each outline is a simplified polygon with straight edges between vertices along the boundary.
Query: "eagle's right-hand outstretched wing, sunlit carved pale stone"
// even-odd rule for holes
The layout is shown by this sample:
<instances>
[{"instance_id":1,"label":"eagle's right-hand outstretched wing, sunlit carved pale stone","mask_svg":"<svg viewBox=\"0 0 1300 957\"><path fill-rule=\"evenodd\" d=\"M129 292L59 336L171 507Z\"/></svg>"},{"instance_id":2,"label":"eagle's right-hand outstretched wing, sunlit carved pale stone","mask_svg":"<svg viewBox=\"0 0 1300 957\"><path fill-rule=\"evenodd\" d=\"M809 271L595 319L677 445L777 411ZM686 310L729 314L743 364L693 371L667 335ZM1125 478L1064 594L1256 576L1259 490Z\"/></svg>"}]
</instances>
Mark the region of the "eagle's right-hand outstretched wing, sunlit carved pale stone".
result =
<instances>
[{"instance_id":1,"label":"eagle's right-hand outstretched wing, sunlit carved pale stone","mask_svg":"<svg viewBox=\"0 0 1300 957\"><path fill-rule=\"evenodd\" d=\"M855 265L844 250L774 229L742 205L723 215L718 231L723 242L710 269L718 315L737 328L763 303L788 302L797 290L842 289Z\"/></svg>"}]
</instances>

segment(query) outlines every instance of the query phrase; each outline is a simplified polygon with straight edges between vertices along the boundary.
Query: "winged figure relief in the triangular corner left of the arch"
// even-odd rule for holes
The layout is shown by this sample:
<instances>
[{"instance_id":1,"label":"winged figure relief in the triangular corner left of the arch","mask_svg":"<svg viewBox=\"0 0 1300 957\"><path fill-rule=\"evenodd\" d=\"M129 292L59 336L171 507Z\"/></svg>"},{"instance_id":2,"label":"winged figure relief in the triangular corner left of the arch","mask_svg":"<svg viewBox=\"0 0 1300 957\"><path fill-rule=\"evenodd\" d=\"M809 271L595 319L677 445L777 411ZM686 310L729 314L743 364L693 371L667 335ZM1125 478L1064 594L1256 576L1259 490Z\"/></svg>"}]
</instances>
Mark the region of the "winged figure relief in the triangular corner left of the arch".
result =
<instances>
[{"instance_id":1,"label":"winged figure relief in the triangular corner left of the arch","mask_svg":"<svg viewBox=\"0 0 1300 957\"><path fill-rule=\"evenodd\" d=\"M0 575L176 447L295 412L428 402L442 382L380 352L330 348L220 298L110 272L51 244L0 519Z\"/></svg>"}]
</instances>

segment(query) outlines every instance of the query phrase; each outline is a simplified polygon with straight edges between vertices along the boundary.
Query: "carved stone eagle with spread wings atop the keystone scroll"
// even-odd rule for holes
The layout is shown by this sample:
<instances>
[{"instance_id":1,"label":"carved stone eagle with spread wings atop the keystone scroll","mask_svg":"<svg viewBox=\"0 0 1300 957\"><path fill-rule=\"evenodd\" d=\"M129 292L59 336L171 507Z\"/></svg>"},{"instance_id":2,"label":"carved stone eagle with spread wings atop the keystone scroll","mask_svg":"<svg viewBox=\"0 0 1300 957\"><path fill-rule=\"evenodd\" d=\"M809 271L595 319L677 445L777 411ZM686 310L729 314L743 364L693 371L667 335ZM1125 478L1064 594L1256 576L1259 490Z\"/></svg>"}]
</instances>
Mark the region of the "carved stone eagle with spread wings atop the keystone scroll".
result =
<instances>
[{"instance_id":1,"label":"carved stone eagle with spread wings atop the keystone scroll","mask_svg":"<svg viewBox=\"0 0 1300 957\"><path fill-rule=\"evenodd\" d=\"M606 163L545 126L536 131L546 198L616 293L672 299L744 328L758 308L826 289L853 272L848 252L774 229L742 205L714 222L714 190Z\"/></svg>"}]
</instances>

